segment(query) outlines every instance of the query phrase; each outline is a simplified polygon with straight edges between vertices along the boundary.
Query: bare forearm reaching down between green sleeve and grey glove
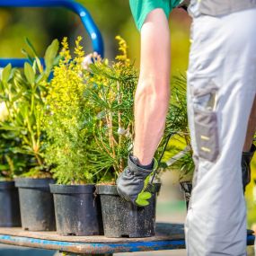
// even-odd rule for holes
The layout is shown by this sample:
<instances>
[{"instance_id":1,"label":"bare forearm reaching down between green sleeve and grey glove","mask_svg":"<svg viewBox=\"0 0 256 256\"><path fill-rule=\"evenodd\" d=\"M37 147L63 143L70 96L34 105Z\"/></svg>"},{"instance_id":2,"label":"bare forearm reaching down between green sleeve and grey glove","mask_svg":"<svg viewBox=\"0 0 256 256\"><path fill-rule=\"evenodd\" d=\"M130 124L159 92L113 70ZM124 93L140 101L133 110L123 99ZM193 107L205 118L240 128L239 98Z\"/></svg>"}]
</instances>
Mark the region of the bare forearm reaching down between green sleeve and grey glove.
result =
<instances>
[{"instance_id":1,"label":"bare forearm reaching down between green sleeve and grey glove","mask_svg":"<svg viewBox=\"0 0 256 256\"><path fill-rule=\"evenodd\" d=\"M135 97L133 154L139 163L152 162L163 135L170 99L170 31L163 10L149 13L141 30L140 75Z\"/></svg>"}]
</instances>

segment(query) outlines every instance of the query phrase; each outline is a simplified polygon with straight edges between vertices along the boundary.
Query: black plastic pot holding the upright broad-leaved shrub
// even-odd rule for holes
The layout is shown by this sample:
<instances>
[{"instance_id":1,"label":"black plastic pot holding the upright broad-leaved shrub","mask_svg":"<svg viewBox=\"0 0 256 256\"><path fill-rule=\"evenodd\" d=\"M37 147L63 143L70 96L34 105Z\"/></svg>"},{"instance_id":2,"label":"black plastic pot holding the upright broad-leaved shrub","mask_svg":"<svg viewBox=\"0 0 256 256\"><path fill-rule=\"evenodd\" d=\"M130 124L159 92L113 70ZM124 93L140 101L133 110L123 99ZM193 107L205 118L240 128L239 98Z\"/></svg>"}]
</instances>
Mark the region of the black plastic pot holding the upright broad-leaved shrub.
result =
<instances>
[{"instance_id":1,"label":"black plastic pot holding the upright broad-leaved shrub","mask_svg":"<svg viewBox=\"0 0 256 256\"><path fill-rule=\"evenodd\" d=\"M56 230L53 197L49 191L52 179L15 179L19 190L22 228L30 231Z\"/></svg>"}]
</instances>

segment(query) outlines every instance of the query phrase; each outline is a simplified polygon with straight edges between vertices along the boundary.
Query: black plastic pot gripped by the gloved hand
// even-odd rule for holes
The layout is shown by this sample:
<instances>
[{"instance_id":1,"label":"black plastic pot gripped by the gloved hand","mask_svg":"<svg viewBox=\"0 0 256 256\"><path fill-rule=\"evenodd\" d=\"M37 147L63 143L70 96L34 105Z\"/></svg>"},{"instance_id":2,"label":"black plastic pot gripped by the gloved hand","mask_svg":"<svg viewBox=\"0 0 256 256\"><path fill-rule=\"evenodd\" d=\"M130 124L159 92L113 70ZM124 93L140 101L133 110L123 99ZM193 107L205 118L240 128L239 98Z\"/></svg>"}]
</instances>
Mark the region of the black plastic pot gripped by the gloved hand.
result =
<instances>
[{"instance_id":1,"label":"black plastic pot gripped by the gloved hand","mask_svg":"<svg viewBox=\"0 0 256 256\"><path fill-rule=\"evenodd\" d=\"M117 187L98 185L97 193L102 202L104 234L107 237L148 237L155 232L156 193L161 184L154 184L154 190L147 207L136 207L119 197Z\"/></svg>"}]
</instances>

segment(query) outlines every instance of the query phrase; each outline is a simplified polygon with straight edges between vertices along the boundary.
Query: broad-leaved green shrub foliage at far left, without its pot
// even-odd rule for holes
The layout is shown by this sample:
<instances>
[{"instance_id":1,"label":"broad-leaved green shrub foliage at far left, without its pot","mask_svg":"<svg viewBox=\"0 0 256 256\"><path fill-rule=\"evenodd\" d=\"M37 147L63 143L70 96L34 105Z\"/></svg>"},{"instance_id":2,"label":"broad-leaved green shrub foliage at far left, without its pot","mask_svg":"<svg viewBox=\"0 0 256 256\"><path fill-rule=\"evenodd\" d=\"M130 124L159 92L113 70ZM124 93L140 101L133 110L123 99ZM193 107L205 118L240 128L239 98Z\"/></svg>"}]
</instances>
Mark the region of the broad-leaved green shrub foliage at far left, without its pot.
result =
<instances>
[{"instance_id":1,"label":"broad-leaved green shrub foliage at far left, without its pot","mask_svg":"<svg viewBox=\"0 0 256 256\"><path fill-rule=\"evenodd\" d=\"M4 134L12 133L12 137L18 141L13 145L12 153L22 154L26 159L26 168L23 168L22 176L49 177L42 144L45 137L42 117L49 75L57 58L58 42L54 40L47 49L45 68L29 40L27 45L31 54L23 50L28 57L23 70L8 65L2 73L0 100L4 102L8 118L0 120L0 129Z\"/></svg>"}]
</instances>

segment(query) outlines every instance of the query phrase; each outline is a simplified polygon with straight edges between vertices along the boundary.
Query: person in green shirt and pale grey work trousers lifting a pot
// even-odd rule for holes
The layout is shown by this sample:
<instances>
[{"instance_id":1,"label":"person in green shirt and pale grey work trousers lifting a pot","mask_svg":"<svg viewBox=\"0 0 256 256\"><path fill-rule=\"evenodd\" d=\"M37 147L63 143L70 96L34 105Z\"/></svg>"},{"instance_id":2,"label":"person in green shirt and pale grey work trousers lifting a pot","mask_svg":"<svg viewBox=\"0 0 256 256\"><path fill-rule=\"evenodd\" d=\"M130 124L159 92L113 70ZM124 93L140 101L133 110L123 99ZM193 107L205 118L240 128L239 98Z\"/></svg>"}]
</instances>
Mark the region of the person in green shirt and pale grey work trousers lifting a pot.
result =
<instances>
[{"instance_id":1,"label":"person in green shirt and pale grey work trousers lifting a pot","mask_svg":"<svg viewBox=\"0 0 256 256\"><path fill-rule=\"evenodd\" d=\"M130 1L141 32L141 71L134 149L117 185L119 195L136 205L154 169L170 98L170 34L162 6L167 2L173 4ZM142 3L149 4L149 13L139 14L139 6L134 11L133 4ZM196 168L185 224L187 253L246 255L243 187L250 180L255 151L256 1L191 0L189 10L187 98Z\"/></svg>"}]
</instances>

